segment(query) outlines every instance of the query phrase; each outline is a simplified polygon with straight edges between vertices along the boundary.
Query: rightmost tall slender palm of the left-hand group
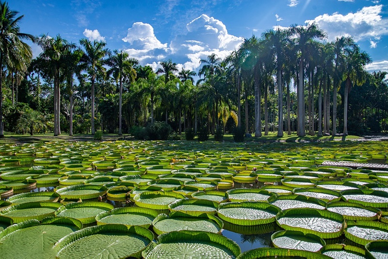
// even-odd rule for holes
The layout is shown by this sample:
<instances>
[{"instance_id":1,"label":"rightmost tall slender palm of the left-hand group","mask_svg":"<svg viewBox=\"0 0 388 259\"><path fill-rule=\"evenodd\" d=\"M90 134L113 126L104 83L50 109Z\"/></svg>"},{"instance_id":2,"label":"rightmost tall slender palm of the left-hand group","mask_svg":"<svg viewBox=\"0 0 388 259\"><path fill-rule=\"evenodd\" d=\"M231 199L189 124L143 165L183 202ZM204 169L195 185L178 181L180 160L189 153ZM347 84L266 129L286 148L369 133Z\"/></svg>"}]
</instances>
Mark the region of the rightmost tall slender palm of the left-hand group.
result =
<instances>
[{"instance_id":1,"label":"rightmost tall slender palm of the left-hand group","mask_svg":"<svg viewBox=\"0 0 388 259\"><path fill-rule=\"evenodd\" d=\"M129 84L136 79L136 70L134 68L135 65L138 65L139 62L136 59L129 59L129 54L127 52L123 52L122 50L119 52L118 50L113 50L114 55L111 55L107 64L111 66L108 70L107 74L113 74L113 77L119 81L120 84L120 92L119 92L119 128L118 134L122 135L122 98L123 98L123 78L126 77Z\"/></svg>"}]
</instances>

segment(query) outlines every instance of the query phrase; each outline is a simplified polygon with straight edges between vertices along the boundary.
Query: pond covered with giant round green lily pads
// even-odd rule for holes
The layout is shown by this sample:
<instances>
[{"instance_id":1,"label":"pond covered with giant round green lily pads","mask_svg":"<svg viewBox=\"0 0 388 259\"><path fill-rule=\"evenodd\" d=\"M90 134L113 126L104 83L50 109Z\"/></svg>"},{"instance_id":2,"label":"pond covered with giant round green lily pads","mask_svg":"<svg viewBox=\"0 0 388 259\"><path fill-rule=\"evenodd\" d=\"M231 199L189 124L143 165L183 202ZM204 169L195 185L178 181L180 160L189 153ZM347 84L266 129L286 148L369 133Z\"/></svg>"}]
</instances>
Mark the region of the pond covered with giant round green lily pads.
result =
<instances>
[{"instance_id":1,"label":"pond covered with giant round green lily pads","mask_svg":"<svg viewBox=\"0 0 388 259\"><path fill-rule=\"evenodd\" d=\"M0 257L388 258L387 150L385 141L5 144Z\"/></svg>"}]
</instances>

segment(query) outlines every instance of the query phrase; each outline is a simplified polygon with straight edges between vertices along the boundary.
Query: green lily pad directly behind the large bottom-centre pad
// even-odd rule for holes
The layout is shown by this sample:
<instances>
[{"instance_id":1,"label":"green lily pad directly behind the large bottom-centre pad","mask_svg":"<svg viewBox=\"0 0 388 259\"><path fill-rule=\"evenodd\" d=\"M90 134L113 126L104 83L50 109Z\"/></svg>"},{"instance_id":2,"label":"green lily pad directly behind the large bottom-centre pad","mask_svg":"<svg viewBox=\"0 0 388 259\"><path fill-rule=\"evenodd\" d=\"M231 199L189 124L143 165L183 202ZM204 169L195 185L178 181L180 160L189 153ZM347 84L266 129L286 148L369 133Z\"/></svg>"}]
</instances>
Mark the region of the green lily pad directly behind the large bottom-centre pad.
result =
<instances>
[{"instance_id":1,"label":"green lily pad directly behind the large bottom-centre pad","mask_svg":"<svg viewBox=\"0 0 388 259\"><path fill-rule=\"evenodd\" d=\"M224 226L222 220L208 213L192 216L182 212L171 212L168 216L159 214L152 222L155 233L179 230L208 231L219 233Z\"/></svg>"}]
</instances>

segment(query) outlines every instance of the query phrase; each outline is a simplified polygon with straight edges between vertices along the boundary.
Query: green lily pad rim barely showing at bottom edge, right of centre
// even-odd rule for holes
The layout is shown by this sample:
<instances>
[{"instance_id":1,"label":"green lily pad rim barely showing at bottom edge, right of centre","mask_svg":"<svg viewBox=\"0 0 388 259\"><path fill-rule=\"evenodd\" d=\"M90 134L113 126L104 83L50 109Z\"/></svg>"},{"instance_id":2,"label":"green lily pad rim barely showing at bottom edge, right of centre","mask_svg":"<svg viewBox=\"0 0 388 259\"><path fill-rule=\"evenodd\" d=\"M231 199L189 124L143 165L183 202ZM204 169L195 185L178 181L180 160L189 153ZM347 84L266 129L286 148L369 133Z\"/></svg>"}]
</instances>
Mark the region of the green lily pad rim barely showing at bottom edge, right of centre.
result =
<instances>
[{"instance_id":1,"label":"green lily pad rim barely showing at bottom edge, right of centre","mask_svg":"<svg viewBox=\"0 0 388 259\"><path fill-rule=\"evenodd\" d=\"M331 257L316 252L297 249L263 247L256 248L240 254L236 259L259 259L271 257L305 258L305 259L332 259Z\"/></svg>"}]
</instances>

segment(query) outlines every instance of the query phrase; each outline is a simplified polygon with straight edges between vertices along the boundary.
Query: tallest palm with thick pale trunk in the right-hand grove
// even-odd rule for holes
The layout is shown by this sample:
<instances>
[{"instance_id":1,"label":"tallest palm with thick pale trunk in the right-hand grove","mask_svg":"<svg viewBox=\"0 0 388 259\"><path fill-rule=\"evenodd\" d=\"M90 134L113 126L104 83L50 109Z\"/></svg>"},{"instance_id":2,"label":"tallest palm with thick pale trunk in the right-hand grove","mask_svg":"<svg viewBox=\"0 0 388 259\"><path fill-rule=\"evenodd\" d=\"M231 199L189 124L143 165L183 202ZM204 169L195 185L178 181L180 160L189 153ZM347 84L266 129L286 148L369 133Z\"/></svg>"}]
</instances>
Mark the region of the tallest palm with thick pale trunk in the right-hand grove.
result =
<instances>
[{"instance_id":1,"label":"tallest palm with thick pale trunk in the right-hand grove","mask_svg":"<svg viewBox=\"0 0 388 259\"><path fill-rule=\"evenodd\" d=\"M298 48L300 51L299 61L299 82L297 88L297 102L298 102L298 136L305 136L305 88L304 88L304 59L306 56L306 43L314 38L324 39L326 32L318 28L315 23L306 24L306 26L291 25L291 33L298 38Z\"/></svg>"}]
</instances>

